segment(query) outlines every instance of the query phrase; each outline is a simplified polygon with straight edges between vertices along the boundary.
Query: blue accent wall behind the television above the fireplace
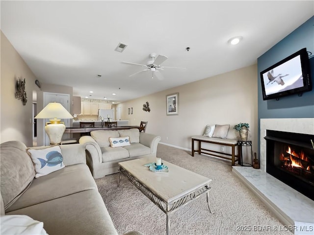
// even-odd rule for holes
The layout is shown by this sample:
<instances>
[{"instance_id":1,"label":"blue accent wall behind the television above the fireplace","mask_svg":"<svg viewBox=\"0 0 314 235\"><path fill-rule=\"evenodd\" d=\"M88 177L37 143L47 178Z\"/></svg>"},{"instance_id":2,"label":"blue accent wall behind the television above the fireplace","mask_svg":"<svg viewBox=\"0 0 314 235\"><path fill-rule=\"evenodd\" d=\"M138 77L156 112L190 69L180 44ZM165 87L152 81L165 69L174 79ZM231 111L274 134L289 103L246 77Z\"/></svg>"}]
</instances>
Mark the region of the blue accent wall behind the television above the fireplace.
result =
<instances>
[{"instance_id":1,"label":"blue accent wall behind the television above the fireplace","mask_svg":"<svg viewBox=\"0 0 314 235\"><path fill-rule=\"evenodd\" d=\"M281 97L278 101L262 99L260 72L304 47L314 55L314 16L258 58L258 137L261 118L314 118L314 57L310 58L311 92L305 92L301 97L297 94ZM258 140L260 153L260 138Z\"/></svg>"}]
</instances>

